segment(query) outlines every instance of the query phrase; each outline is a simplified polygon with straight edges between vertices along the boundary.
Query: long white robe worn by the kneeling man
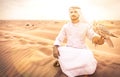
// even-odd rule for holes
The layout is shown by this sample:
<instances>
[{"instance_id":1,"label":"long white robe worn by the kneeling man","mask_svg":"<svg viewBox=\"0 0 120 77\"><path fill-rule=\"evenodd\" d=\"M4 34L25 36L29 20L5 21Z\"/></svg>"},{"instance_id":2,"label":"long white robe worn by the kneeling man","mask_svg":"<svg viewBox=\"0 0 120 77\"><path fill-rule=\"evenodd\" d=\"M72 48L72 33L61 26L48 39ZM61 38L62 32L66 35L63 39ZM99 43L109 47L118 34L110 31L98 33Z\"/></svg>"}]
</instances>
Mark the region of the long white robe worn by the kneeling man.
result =
<instances>
[{"instance_id":1,"label":"long white robe worn by the kneeling man","mask_svg":"<svg viewBox=\"0 0 120 77\"><path fill-rule=\"evenodd\" d=\"M85 45L85 39L90 40L95 36L92 27L85 23L65 24L54 45L60 45L64 38L67 38L66 46L58 48L60 56L59 63L62 71L68 77L93 74L97 67L97 61L92 51Z\"/></svg>"}]
</instances>

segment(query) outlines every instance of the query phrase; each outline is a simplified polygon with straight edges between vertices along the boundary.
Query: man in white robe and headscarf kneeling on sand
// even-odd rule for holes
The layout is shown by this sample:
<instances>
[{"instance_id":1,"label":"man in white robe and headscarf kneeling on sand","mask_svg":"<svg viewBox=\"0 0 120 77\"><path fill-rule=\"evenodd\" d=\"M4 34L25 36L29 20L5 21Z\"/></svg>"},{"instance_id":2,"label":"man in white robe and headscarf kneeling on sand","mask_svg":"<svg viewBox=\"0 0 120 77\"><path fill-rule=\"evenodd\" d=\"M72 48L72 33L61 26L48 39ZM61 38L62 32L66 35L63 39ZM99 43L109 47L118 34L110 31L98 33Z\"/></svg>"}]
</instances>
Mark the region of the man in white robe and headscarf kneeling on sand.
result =
<instances>
[{"instance_id":1,"label":"man in white robe and headscarf kneeling on sand","mask_svg":"<svg viewBox=\"0 0 120 77\"><path fill-rule=\"evenodd\" d=\"M58 34L53 47L53 56L58 59L60 69L56 77L75 77L93 74L97 61L85 45L88 37L94 44L102 45L104 39L100 38L92 27L84 20L79 7L70 7L71 22L65 24ZM61 46L67 38L66 46ZM59 75L62 73L62 75Z\"/></svg>"}]
</instances>

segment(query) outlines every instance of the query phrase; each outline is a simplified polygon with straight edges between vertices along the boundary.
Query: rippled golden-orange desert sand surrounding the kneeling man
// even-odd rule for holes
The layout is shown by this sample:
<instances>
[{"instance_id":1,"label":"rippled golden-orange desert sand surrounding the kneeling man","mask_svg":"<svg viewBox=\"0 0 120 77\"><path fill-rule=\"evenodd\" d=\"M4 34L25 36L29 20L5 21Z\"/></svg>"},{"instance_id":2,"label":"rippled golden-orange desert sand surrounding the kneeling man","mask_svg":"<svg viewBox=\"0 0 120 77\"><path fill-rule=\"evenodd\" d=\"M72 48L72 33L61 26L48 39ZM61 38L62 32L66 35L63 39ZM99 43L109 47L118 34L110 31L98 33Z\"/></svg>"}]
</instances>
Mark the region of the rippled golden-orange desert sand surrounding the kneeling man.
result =
<instances>
[{"instance_id":1,"label":"rippled golden-orange desert sand surrounding the kneeling man","mask_svg":"<svg viewBox=\"0 0 120 77\"><path fill-rule=\"evenodd\" d=\"M54 40L63 24L58 20L0 20L0 77L54 77L52 56ZM120 37L120 21L99 21ZM89 77L120 77L120 38L111 37L114 48L106 43L94 46L86 40L98 61Z\"/></svg>"}]
</instances>

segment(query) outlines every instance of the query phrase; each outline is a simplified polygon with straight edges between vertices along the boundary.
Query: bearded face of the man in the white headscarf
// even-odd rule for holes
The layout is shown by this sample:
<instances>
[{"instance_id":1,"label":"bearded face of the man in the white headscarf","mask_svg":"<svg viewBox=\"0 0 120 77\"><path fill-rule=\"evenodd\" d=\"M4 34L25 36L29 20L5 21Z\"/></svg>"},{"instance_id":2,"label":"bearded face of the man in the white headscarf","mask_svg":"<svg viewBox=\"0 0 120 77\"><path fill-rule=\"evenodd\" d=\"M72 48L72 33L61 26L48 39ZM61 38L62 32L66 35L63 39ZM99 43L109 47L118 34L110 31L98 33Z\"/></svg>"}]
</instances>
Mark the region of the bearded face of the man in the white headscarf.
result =
<instances>
[{"instance_id":1,"label":"bearded face of the man in the white headscarf","mask_svg":"<svg viewBox=\"0 0 120 77\"><path fill-rule=\"evenodd\" d=\"M79 9L71 8L69 9L69 15L71 20L77 20L79 19Z\"/></svg>"}]
</instances>

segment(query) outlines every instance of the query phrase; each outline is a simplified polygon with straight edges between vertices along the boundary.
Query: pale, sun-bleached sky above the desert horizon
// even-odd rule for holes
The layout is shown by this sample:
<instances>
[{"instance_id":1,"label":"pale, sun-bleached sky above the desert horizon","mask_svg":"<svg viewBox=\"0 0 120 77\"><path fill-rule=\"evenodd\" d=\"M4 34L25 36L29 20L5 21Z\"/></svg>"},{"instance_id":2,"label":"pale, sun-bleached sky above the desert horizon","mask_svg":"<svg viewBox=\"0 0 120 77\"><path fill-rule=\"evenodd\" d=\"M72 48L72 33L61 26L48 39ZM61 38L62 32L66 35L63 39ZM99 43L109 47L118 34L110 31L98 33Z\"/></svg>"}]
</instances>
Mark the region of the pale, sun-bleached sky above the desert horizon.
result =
<instances>
[{"instance_id":1,"label":"pale, sun-bleached sky above the desert horizon","mask_svg":"<svg viewBox=\"0 0 120 77\"><path fill-rule=\"evenodd\" d=\"M0 0L0 20L69 20L70 6L87 21L120 20L120 0Z\"/></svg>"}]
</instances>

